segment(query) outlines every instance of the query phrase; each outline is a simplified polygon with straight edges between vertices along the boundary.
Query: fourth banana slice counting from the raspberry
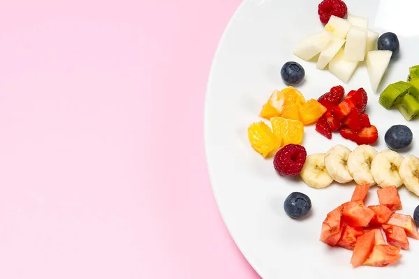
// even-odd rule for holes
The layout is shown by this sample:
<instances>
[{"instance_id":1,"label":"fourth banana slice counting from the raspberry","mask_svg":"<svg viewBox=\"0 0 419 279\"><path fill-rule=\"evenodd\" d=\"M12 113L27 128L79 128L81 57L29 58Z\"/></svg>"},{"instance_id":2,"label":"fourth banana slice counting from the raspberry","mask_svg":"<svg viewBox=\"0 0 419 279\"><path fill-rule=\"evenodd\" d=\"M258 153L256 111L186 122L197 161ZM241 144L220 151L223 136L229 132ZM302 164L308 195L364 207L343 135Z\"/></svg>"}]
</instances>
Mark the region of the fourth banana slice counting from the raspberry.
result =
<instances>
[{"instance_id":1,"label":"fourth banana slice counting from the raspberry","mask_svg":"<svg viewBox=\"0 0 419 279\"><path fill-rule=\"evenodd\" d=\"M371 173L378 186L402 186L403 181L399 176L402 161L403 156L390 149L383 150L375 156L371 164Z\"/></svg>"}]
</instances>

